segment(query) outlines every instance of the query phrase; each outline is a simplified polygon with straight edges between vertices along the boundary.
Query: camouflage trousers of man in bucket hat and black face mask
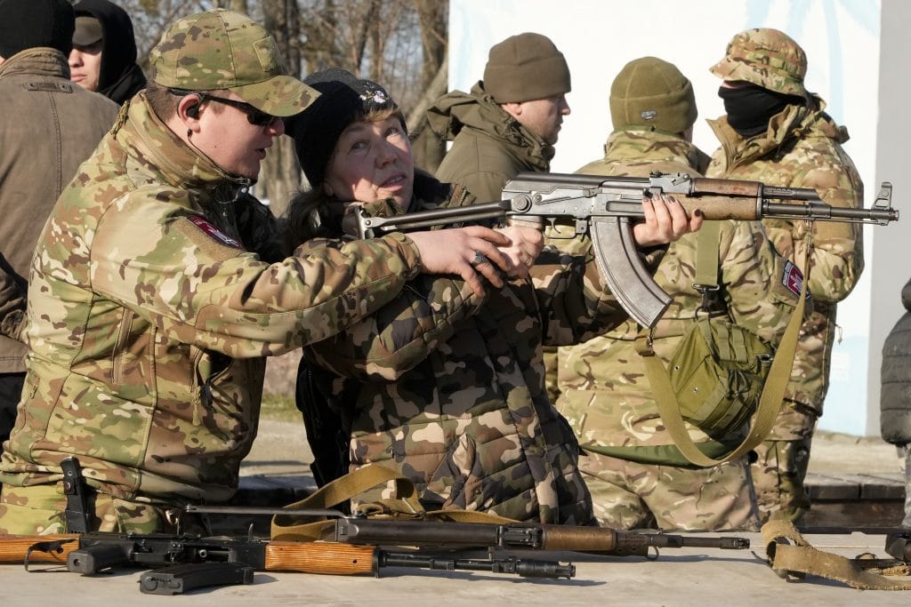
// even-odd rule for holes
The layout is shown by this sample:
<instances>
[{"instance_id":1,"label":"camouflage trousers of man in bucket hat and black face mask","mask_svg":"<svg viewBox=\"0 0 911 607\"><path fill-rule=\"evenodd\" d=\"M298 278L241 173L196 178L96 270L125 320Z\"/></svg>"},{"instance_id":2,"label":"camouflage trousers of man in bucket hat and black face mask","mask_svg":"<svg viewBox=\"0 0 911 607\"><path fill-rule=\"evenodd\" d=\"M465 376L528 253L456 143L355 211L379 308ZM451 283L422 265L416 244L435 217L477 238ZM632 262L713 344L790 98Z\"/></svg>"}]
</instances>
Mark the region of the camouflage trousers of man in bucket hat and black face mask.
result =
<instances>
[{"instance_id":1,"label":"camouflage trousers of man in bucket hat and black face mask","mask_svg":"<svg viewBox=\"0 0 911 607\"><path fill-rule=\"evenodd\" d=\"M803 404L785 400L769 440L756 449L750 467L760 518L798 521L810 510L804 488L817 415Z\"/></svg>"}]
</instances>

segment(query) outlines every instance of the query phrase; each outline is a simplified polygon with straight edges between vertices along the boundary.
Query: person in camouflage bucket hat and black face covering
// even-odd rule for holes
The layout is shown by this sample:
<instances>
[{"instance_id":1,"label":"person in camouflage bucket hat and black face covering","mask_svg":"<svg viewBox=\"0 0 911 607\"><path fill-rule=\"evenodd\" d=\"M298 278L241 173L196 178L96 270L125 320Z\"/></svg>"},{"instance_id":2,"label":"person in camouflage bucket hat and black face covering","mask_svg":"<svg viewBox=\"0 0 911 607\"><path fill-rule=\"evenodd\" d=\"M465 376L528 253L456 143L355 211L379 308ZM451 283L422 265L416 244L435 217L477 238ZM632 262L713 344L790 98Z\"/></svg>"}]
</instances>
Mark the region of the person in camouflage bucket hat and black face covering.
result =
<instances>
[{"instance_id":1,"label":"person in camouflage bucket hat and black face covering","mask_svg":"<svg viewBox=\"0 0 911 607\"><path fill-rule=\"evenodd\" d=\"M842 144L848 139L804 87L806 55L788 35L751 29L735 35L711 67L723 79L726 116L710 121L721 147L710 177L754 179L770 186L814 187L833 207L861 207L864 187ZM855 287L864 268L861 228L854 224L764 219L778 251L795 263L811 255L808 288L813 313L800 342L783 410L769 440L757 449L752 478L763 519L775 512L798 520L810 508L804 477L810 441L823 414L835 328L835 304ZM810 245L809 249L807 245Z\"/></svg>"}]
</instances>

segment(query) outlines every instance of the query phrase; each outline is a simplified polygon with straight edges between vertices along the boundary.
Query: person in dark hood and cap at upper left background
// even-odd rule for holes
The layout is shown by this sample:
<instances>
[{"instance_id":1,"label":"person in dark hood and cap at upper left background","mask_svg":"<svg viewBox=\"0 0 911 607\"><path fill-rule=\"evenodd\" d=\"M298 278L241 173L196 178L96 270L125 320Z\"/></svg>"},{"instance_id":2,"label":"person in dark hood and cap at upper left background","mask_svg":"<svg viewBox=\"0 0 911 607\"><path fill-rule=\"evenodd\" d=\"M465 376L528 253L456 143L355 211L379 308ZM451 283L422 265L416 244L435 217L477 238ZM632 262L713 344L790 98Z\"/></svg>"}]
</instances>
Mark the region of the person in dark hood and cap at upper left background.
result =
<instances>
[{"instance_id":1,"label":"person in dark hood and cap at upper left background","mask_svg":"<svg viewBox=\"0 0 911 607\"><path fill-rule=\"evenodd\" d=\"M126 11L107 0L80 0L73 8L70 79L122 106L146 87L146 76L136 64L133 23Z\"/></svg>"}]
</instances>

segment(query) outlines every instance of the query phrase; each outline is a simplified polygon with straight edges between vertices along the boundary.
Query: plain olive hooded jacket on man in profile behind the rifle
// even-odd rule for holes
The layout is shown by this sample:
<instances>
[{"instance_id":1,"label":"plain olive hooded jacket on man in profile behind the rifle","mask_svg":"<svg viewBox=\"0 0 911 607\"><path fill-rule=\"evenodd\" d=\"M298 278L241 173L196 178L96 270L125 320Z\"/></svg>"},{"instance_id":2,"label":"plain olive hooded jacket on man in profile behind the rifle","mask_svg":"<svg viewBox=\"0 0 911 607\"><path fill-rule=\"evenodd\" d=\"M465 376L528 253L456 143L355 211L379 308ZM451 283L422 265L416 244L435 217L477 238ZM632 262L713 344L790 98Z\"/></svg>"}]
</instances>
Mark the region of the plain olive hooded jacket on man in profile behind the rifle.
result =
<instances>
[{"instance_id":1,"label":"plain olive hooded jacket on man in profile behind the rifle","mask_svg":"<svg viewBox=\"0 0 911 607\"><path fill-rule=\"evenodd\" d=\"M453 142L436 177L468 188L481 202L499 200L522 171L550 170L554 147L496 104L478 82L471 93L453 91L427 110L430 127Z\"/></svg>"}]
</instances>

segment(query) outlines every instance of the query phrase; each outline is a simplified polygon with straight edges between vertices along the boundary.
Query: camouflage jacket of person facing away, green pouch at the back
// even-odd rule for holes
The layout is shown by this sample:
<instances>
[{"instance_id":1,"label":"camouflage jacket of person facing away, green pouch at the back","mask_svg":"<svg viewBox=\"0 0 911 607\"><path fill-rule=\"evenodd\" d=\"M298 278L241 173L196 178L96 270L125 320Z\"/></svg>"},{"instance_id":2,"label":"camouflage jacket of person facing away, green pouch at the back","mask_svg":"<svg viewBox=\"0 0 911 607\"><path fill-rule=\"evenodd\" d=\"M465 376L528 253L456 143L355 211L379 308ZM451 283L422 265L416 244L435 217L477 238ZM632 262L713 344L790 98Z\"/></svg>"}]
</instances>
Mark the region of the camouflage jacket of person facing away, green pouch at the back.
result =
<instances>
[{"instance_id":1,"label":"camouflage jacket of person facing away, green pouch at the back","mask_svg":"<svg viewBox=\"0 0 911 607\"><path fill-rule=\"evenodd\" d=\"M608 139L605 157L580 173L644 177L653 170L698 175L707 160L687 141L658 131L617 131ZM704 166L704 165L703 165ZM722 300L738 325L777 344L791 318L796 294L781 284L784 260L763 235L758 222L725 221L720 230L719 286ZM692 287L699 233L671 243L655 281L673 301L652 330L653 345L665 366L692 325L701 295ZM634 340L640 326L627 320L617 329L558 353L558 410L566 416L582 449L670 445L652 398L645 365ZM708 437L689 426L692 440ZM736 439L736 437L732 437Z\"/></svg>"}]
</instances>

